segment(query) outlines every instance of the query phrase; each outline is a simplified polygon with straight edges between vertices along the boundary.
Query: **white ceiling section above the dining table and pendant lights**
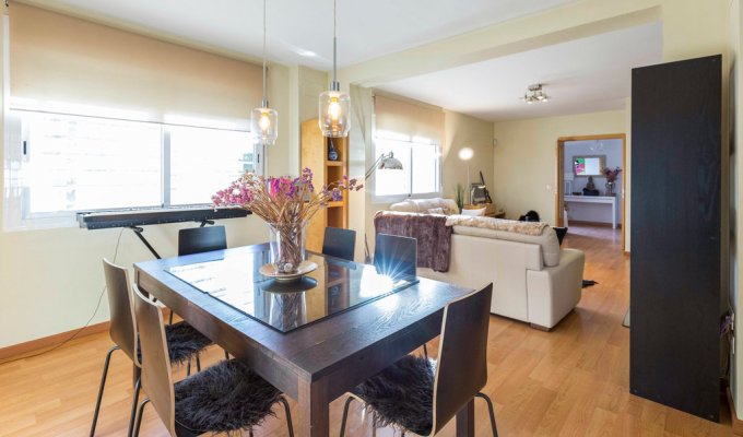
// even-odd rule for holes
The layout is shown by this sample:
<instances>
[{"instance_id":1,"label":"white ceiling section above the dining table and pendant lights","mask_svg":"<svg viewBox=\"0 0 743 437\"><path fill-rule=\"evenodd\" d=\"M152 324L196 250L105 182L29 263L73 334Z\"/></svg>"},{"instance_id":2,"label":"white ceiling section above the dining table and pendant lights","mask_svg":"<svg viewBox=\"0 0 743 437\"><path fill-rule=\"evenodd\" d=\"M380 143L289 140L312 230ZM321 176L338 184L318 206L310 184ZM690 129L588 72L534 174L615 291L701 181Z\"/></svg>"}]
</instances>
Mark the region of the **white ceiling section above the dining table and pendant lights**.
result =
<instances>
[{"instance_id":1,"label":"white ceiling section above the dining table and pendant lights","mask_svg":"<svg viewBox=\"0 0 743 437\"><path fill-rule=\"evenodd\" d=\"M26 0L260 56L260 0ZM339 66L349 66L571 0L338 0ZM332 0L268 0L269 59L329 69ZM317 56L303 56L315 52Z\"/></svg>"}]
</instances>

